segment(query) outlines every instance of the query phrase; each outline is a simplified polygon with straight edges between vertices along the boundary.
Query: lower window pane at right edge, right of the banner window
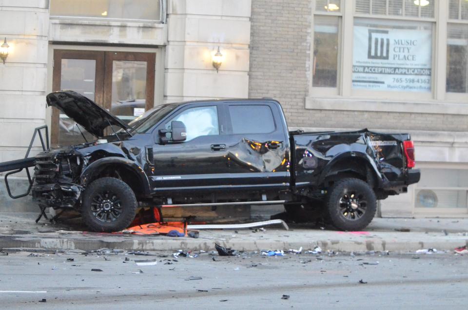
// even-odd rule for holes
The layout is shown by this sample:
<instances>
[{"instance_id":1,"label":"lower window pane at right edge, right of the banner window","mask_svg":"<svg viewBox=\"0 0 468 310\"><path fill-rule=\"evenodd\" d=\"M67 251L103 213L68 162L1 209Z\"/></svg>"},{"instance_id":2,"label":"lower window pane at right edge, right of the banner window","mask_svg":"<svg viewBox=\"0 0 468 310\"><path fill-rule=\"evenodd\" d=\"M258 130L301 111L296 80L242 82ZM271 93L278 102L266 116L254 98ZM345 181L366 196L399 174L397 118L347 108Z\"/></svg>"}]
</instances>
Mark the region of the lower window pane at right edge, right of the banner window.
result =
<instances>
[{"instance_id":1,"label":"lower window pane at right edge, right of the banner window","mask_svg":"<svg viewBox=\"0 0 468 310\"><path fill-rule=\"evenodd\" d=\"M468 1L467 1L468 2ZM447 92L468 92L468 24L447 27Z\"/></svg>"}]
</instances>

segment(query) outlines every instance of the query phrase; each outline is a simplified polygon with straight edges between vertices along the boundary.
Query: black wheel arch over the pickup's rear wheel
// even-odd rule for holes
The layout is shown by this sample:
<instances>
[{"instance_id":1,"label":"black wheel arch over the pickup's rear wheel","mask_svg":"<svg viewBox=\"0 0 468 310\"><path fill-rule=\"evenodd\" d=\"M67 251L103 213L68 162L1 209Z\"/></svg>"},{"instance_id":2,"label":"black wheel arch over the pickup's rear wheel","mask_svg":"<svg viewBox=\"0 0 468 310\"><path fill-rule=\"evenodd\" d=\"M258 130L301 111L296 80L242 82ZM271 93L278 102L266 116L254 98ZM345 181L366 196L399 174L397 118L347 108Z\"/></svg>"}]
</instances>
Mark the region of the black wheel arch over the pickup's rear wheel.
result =
<instances>
[{"instance_id":1,"label":"black wheel arch over the pickup's rear wheel","mask_svg":"<svg viewBox=\"0 0 468 310\"><path fill-rule=\"evenodd\" d=\"M382 183L382 177L373 160L370 160L367 154L360 152L347 152L333 158L320 175L319 184L327 185L344 177L362 179L372 188Z\"/></svg>"}]
</instances>

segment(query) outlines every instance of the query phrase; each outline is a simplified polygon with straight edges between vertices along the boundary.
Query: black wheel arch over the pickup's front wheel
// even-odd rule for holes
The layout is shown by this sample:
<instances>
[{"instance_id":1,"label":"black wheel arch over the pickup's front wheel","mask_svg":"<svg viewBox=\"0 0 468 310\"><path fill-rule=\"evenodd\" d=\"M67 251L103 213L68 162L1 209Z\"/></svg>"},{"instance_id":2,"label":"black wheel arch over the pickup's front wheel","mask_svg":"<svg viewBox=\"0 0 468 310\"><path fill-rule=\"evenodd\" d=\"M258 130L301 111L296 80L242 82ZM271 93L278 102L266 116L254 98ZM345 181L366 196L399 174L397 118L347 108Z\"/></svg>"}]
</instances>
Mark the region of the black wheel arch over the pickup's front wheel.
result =
<instances>
[{"instance_id":1,"label":"black wheel arch over the pickup's front wheel","mask_svg":"<svg viewBox=\"0 0 468 310\"><path fill-rule=\"evenodd\" d=\"M121 178L137 196L150 194L148 177L143 169L135 162L121 157L105 157L91 163L81 173L81 185L86 187L100 177L109 176L109 173Z\"/></svg>"}]
</instances>

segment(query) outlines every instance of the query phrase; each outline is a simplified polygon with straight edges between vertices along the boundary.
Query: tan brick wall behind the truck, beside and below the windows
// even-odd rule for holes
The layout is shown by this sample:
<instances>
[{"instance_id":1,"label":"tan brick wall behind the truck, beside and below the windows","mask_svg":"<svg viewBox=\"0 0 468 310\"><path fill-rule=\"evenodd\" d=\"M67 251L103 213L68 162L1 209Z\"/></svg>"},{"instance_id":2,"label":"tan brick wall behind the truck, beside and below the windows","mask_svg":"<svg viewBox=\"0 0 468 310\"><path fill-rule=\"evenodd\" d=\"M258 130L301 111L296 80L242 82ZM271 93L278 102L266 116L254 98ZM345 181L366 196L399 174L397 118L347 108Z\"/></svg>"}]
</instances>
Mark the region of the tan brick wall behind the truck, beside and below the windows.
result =
<instances>
[{"instance_id":1,"label":"tan brick wall behind the truck, beside and below the windows","mask_svg":"<svg viewBox=\"0 0 468 310\"><path fill-rule=\"evenodd\" d=\"M468 131L468 116L463 115L305 109L311 4L312 0L252 0L249 97L279 100L294 127Z\"/></svg>"}]
</instances>

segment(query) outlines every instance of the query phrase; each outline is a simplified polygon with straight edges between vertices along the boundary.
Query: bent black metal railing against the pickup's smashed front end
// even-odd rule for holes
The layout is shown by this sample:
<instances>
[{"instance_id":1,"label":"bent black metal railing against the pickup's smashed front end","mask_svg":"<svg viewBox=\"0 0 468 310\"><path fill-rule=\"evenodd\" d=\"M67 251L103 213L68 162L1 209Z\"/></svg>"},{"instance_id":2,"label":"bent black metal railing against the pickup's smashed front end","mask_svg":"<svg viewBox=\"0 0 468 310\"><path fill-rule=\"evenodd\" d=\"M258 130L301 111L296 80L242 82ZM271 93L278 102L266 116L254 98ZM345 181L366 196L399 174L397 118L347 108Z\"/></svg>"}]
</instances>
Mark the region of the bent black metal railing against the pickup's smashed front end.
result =
<instances>
[{"instance_id":1,"label":"bent black metal railing against the pickup's smashed front end","mask_svg":"<svg viewBox=\"0 0 468 310\"><path fill-rule=\"evenodd\" d=\"M44 137L42 136L42 132L45 131L45 143L44 143ZM31 178L31 174L29 173L29 168L34 167L35 163L34 161L36 160L35 157L28 157L29 153L31 152L31 148L33 147L34 140L36 139L36 136L39 136L40 144L42 146L43 151L48 151L50 149L49 147L49 129L47 125L40 126L34 130L33 137L31 138L31 142L29 143L28 150L26 151L26 155L24 156L23 159L17 159L17 160L11 160L11 161L5 161L0 163L0 173L2 172L8 172L5 174L5 186L6 190L8 192L8 195L13 198L21 198L24 196L27 196L31 192L31 188L34 183L34 177ZM28 181L29 181L29 187L26 193L20 194L20 195L13 195L11 194L11 189L10 185L8 184L8 176L12 174L17 174L21 172L23 169L26 169L26 174L28 176Z\"/></svg>"}]
</instances>

